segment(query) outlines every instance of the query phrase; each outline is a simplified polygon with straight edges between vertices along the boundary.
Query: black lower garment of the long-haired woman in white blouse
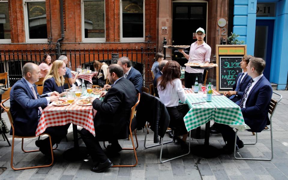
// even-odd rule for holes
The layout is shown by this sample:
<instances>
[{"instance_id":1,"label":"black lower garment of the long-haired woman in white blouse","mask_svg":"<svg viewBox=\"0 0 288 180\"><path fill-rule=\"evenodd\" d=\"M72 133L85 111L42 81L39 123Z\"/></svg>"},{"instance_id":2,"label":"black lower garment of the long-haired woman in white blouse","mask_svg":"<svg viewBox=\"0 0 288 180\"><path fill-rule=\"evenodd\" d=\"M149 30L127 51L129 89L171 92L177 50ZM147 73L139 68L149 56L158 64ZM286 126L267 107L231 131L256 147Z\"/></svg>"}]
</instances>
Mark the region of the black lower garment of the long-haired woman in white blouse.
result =
<instances>
[{"instance_id":1,"label":"black lower garment of the long-haired woman in white blouse","mask_svg":"<svg viewBox=\"0 0 288 180\"><path fill-rule=\"evenodd\" d=\"M170 122L168 127L175 129L174 133L176 136L187 134L188 131L186 129L183 119L185 114L179 112L177 107L166 107L166 108L170 116Z\"/></svg>"}]
</instances>

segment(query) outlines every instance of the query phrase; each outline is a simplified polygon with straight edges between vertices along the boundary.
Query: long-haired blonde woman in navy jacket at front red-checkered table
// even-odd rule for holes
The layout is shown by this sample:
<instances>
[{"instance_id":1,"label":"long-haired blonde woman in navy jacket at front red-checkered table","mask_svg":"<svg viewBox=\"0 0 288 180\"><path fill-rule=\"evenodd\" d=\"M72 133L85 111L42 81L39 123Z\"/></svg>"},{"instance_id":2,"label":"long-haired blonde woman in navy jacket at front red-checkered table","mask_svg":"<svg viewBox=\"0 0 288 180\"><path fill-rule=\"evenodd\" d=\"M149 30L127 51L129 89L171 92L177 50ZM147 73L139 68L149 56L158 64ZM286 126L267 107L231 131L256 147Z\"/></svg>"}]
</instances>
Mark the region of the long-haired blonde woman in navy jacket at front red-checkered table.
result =
<instances>
[{"instance_id":1,"label":"long-haired blonde woman in navy jacket at front red-checkered table","mask_svg":"<svg viewBox=\"0 0 288 180\"><path fill-rule=\"evenodd\" d=\"M49 73L45 76L43 81L43 94L47 92L57 91L60 97L66 95L66 90L64 89L64 75L66 73L66 65L61 60L56 60L52 63L52 67Z\"/></svg>"}]
</instances>

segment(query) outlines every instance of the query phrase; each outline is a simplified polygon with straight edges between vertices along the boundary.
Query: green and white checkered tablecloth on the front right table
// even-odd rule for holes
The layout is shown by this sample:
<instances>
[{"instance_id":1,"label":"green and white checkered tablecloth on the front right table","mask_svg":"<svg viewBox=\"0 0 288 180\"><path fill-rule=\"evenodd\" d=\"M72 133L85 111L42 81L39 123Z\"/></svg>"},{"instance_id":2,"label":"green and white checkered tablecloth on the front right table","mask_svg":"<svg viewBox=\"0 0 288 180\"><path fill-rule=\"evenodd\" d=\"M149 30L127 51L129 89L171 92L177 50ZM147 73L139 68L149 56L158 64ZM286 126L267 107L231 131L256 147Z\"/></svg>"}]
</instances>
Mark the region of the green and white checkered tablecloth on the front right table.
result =
<instances>
[{"instance_id":1,"label":"green and white checkered tablecloth on the front right table","mask_svg":"<svg viewBox=\"0 0 288 180\"><path fill-rule=\"evenodd\" d=\"M199 99L197 94L186 94L186 103L190 108L184 116L187 131L210 120L239 130L250 129L244 122L240 107L225 96L212 96L212 102L193 104L202 101L206 101L206 98Z\"/></svg>"}]
</instances>

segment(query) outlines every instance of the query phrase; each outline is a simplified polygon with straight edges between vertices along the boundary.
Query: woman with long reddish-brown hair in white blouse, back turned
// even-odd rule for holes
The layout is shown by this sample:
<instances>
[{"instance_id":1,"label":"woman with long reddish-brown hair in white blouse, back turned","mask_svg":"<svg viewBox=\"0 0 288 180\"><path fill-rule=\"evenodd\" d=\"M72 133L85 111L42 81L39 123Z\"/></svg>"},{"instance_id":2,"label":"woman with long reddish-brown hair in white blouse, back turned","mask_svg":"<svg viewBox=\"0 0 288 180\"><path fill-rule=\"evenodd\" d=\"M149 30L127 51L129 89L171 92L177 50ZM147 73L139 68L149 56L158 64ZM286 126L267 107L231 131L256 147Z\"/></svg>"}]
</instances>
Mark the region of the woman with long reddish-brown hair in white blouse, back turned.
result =
<instances>
[{"instance_id":1,"label":"woman with long reddish-brown hair in white blouse, back turned","mask_svg":"<svg viewBox=\"0 0 288 180\"><path fill-rule=\"evenodd\" d=\"M164 66L163 75L159 78L157 89L160 100L166 106L170 115L170 128L175 128L175 136L179 144L186 145L187 129L184 124L184 116L187 113L178 110L179 99L186 101L185 91L180 80L180 64L176 61L168 61ZM183 135L182 140L177 137Z\"/></svg>"}]
</instances>

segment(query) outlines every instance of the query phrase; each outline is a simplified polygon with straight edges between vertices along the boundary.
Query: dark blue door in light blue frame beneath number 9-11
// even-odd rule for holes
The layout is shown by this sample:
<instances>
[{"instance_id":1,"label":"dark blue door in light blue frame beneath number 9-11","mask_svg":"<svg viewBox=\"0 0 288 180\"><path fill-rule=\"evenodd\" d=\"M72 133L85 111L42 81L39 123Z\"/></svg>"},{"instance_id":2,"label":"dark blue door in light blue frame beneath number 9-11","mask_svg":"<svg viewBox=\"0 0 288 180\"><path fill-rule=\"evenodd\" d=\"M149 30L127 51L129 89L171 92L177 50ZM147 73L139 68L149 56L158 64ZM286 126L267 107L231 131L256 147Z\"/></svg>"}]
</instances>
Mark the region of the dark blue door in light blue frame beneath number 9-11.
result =
<instances>
[{"instance_id":1,"label":"dark blue door in light blue frame beneath number 9-11","mask_svg":"<svg viewBox=\"0 0 288 180\"><path fill-rule=\"evenodd\" d=\"M274 20L256 19L254 56L266 61L264 76L270 79Z\"/></svg>"}]
</instances>

